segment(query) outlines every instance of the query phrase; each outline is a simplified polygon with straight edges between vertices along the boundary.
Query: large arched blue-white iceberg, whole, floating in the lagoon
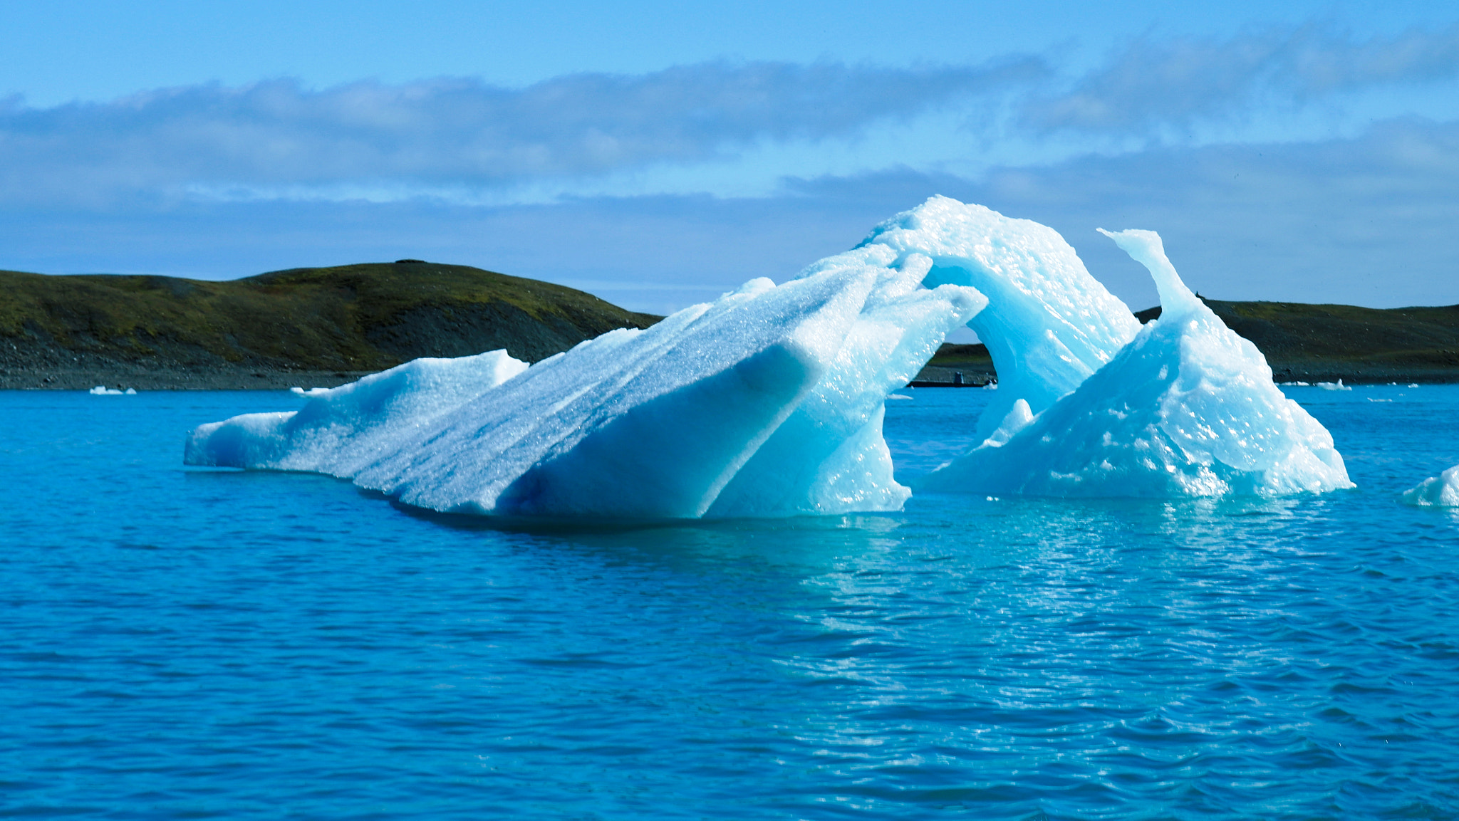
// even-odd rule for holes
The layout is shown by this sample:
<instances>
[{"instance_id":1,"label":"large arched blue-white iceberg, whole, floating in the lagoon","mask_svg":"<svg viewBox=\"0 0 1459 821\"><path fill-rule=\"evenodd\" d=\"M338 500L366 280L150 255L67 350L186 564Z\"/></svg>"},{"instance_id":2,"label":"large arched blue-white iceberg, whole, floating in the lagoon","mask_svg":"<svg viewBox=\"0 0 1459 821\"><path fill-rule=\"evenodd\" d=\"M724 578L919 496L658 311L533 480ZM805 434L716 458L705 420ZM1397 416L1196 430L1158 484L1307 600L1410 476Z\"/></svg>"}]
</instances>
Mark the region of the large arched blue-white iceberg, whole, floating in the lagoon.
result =
<instances>
[{"instance_id":1,"label":"large arched blue-white iceberg, whole, floating in the lagoon","mask_svg":"<svg viewBox=\"0 0 1459 821\"><path fill-rule=\"evenodd\" d=\"M527 366L422 359L204 424L193 465L350 478L404 503L626 519L896 510L884 405L973 328L999 391L945 491L1275 494L1350 487L1332 437L1192 295L1153 232L1110 233L1156 277L1141 328L1050 227L945 197L781 286L753 280L645 331Z\"/></svg>"}]
</instances>

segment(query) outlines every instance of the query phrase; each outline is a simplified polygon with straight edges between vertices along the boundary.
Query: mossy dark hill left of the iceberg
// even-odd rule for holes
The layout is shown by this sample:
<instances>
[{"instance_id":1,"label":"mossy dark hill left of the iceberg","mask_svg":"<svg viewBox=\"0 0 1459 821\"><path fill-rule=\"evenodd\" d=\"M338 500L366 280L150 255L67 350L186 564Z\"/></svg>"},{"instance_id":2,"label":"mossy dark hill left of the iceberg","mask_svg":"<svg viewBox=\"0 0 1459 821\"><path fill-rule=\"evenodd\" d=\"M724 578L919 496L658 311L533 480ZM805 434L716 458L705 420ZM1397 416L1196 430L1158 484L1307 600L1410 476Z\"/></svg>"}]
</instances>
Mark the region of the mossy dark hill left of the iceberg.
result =
<instances>
[{"instance_id":1,"label":"mossy dark hill left of the iceberg","mask_svg":"<svg viewBox=\"0 0 1459 821\"><path fill-rule=\"evenodd\" d=\"M659 318L467 265L401 260L231 281L0 271L0 388L334 385L417 356L537 362Z\"/></svg>"}]
</instances>

